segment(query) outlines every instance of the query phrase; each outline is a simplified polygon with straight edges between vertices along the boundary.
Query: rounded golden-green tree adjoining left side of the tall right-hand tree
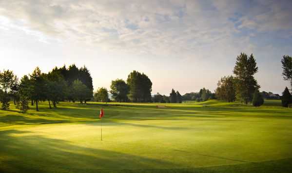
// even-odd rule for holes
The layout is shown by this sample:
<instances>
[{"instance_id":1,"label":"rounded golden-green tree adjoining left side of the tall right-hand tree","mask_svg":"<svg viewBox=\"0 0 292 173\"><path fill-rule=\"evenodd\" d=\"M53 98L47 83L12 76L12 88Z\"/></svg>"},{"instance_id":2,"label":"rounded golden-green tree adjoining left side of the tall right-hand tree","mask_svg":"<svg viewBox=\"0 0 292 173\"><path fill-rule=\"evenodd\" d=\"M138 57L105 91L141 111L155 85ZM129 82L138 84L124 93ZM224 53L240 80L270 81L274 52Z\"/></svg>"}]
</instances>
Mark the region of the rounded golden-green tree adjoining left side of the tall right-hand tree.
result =
<instances>
[{"instance_id":1,"label":"rounded golden-green tree adjoining left side of the tall right-hand tree","mask_svg":"<svg viewBox=\"0 0 292 173\"><path fill-rule=\"evenodd\" d=\"M218 81L215 94L219 100L225 100L228 102L235 101L234 77L233 76L221 77L221 79Z\"/></svg>"}]
</instances>

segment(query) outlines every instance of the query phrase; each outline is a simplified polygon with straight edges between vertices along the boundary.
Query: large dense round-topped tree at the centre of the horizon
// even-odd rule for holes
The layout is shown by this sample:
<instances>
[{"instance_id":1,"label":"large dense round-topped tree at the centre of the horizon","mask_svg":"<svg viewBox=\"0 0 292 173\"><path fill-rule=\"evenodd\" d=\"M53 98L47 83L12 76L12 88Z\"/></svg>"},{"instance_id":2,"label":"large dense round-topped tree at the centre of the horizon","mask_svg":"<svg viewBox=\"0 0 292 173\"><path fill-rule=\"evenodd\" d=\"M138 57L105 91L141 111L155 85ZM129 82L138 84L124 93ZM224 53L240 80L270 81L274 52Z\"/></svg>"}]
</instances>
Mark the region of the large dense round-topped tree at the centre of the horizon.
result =
<instances>
[{"instance_id":1,"label":"large dense round-topped tree at the centre of the horizon","mask_svg":"<svg viewBox=\"0 0 292 173\"><path fill-rule=\"evenodd\" d=\"M134 70L128 75L127 84L130 87L128 97L133 102L151 101L152 82L147 75Z\"/></svg>"}]
</instances>

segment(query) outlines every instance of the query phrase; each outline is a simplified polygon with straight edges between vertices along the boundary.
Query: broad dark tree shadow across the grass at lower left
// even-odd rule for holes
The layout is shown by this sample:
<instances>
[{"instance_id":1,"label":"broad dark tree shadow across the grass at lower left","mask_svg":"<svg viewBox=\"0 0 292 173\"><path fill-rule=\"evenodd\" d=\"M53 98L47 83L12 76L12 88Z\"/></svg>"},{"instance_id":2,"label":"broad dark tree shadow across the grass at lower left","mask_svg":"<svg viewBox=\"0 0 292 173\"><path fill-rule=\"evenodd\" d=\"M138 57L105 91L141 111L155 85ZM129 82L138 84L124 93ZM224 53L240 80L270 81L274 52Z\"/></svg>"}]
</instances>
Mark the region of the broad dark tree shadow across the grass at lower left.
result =
<instances>
[{"instance_id":1,"label":"broad dark tree shadow across the grass at lower left","mask_svg":"<svg viewBox=\"0 0 292 173\"><path fill-rule=\"evenodd\" d=\"M86 169L98 171L176 166L163 160L78 146L67 140L48 138L31 131L0 131L0 144L0 172L70 172L71 169L86 172Z\"/></svg>"}]
</instances>

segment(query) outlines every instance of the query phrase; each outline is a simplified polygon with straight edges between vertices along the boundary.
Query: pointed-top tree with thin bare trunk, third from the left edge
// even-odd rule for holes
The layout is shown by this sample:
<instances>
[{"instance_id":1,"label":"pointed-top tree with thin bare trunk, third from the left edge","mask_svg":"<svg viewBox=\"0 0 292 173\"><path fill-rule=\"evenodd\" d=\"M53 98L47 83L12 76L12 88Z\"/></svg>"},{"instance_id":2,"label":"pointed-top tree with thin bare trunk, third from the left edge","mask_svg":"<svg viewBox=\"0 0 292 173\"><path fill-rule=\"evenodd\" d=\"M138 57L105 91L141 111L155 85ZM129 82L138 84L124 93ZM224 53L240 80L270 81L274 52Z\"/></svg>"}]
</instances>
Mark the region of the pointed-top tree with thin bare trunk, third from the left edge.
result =
<instances>
[{"instance_id":1,"label":"pointed-top tree with thin bare trunk, third from the left edge","mask_svg":"<svg viewBox=\"0 0 292 173\"><path fill-rule=\"evenodd\" d=\"M39 100L46 97L46 83L45 77L37 67L33 73L30 75L30 81L32 86L31 98L36 102L36 110L39 111Z\"/></svg>"}]
</instances>

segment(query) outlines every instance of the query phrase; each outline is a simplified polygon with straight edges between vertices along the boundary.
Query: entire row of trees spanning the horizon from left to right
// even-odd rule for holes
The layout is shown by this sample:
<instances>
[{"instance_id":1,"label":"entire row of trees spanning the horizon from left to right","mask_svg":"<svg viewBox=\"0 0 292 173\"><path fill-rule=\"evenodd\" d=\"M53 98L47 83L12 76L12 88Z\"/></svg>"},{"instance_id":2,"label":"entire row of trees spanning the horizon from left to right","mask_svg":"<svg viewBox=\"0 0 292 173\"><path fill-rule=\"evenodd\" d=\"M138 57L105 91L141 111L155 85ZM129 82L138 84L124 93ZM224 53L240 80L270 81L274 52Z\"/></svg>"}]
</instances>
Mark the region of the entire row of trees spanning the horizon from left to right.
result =
<instances>
[{"instance_id":1,"label":"entire row of trees spanning the horizon from left to right","mask_svg":"<svg viewBox=\"0 0 292 173\"><path fill-rule=\"evenodd\" d=\"M292 58L283 56L282 76L284 80L290 81L292 87ZM234 76L224 76L217 83L215 93L202 88L199 92L181 95L172 89L169 96L157 93L152 96L152 82L150 78L138 71L132 71L126 81L123 79L112 80L110 91L101 87L93 93L92 77L89 70L83 66L78 68L75 64L68 68L55 67L50 72L42 73L37 67L32 74L19 78L10 70L0 72L0 102L1 109L9 109L10 100L22 112L36 105L39 111L39 101L48 101L49 108L57 107L59 101L76 102L81 104L89 100L108 102L109 93L117 102L159 102L159 103L181 103L183 100L206 101L208 99L219 99L228 102L240 101L245 104L252 102L253 106L264 103L265 93L259 92L260 85L254 78L258 67L253 54L248 56L241 53L237 56L233 69ZM282 105L287 107L292 104L292 96L285 88L282 93Z\"/></svg>"}]
</instances>

